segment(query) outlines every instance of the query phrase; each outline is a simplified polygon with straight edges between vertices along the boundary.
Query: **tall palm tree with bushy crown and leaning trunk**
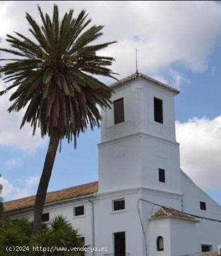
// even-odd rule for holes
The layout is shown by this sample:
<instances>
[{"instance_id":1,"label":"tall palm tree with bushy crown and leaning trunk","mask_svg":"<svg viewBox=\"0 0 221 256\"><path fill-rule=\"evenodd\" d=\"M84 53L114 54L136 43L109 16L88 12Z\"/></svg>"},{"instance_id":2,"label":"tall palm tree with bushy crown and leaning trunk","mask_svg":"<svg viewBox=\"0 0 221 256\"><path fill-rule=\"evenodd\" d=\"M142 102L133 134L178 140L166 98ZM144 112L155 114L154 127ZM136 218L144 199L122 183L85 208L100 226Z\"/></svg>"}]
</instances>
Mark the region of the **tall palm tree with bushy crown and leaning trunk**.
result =
<instances>
[{"instance_id":1,"label":"tall palm tree with bushy crown and leaning trunk","mask_svg":"<svg viewBox=\"0 0 221 256\"><path fill-rule=\"evenodd\" d=\"M16 89L10 97L9 112L26 108L21 127L30 122L33 134L40 127L41 136L48 135L49 146L45 156L43 172L37 189L33 233L41 229L41 215L45 203L59 142L68 142L84 132L99 126L101 115L98 106L110 108L112 90L93 75L113 77L107 68L112 57L99 56L97 51L112 43L93 44L102 35L103 26L87 28L90 19L84 10L73 18L73 10L59 18L59 10L53 7L53 17L43 14L38 6L42 26L26 13L29 31L34 40L15 32L7 35L11 48L1 51L18 56L4 59L3 78L10 82L0 95ZM3 60L3 59L2 59Z\"/></svg>"}]
</instances>

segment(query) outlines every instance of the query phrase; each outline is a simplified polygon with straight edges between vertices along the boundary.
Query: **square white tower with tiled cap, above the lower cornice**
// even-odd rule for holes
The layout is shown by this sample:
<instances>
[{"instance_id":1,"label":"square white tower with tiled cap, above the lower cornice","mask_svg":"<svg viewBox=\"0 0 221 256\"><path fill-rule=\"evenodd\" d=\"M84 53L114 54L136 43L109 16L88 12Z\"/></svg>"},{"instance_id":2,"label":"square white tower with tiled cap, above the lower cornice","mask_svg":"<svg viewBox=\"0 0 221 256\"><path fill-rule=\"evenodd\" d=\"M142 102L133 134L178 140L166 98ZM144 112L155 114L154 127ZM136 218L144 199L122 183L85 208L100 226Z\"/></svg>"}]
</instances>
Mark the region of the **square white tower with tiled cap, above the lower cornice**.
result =
<instances>
[{"instance_id":1,"label":"square white tower with tiled cap, above the lower cornice","mask_svg":"<svg viewBox=\"0 0 221 256\"><path fill-rule=\"evenodd\" d=\"M99 192L150 188L180 192L176 142L177 89L141 73L111 85L112 109L102 110Z\"/></svg>"}]
</instances>

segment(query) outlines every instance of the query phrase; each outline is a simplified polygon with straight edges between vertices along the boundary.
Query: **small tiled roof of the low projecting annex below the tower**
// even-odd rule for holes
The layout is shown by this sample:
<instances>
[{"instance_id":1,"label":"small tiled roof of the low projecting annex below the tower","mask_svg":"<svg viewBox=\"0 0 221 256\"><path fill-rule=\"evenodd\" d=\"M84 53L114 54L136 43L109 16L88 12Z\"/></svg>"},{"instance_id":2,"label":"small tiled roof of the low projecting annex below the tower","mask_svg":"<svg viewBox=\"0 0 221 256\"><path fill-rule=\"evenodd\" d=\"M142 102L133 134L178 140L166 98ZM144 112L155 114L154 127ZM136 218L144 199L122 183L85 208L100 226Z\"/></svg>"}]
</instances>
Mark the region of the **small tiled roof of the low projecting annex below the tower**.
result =
<instances>
[{"instance_id":1,"label":"small tiled roof of the low projecting annex below the tower","mask_svg":"<svg viewBox=\"0 0 221 256\"><path fill-rule=\"evenodd\" d=\"M189 214L186 214L186 213L183 213L183 212L180 212L178 210L175 210L173 208L168 208L168 207L161 207L159 210L157 210L156 213L154 213L151 216L151 219L168 218L168 217L182 218L184 220L200 222L200 220L194 216L191 216Z\"/></svg>"}]
</instances>

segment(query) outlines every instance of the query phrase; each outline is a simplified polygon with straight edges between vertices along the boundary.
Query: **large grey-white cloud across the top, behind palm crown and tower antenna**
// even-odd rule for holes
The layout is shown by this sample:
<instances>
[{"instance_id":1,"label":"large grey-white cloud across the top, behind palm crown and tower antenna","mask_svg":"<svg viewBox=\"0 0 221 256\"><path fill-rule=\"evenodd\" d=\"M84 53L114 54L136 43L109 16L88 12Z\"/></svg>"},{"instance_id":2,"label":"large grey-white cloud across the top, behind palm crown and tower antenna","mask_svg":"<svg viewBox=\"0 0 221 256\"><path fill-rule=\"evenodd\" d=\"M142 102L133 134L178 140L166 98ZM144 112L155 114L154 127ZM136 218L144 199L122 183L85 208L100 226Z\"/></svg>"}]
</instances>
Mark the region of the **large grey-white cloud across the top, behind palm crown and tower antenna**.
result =
<instances>
[{"instance_id":1,"label":"large grey-white cloud across the top, behind palm crown and tower antenna","mask_svg":"<svg viewBox=\"0 0 221 256\"><path fill-rule=\"evenodd\" d=\"M37 1L0 3L7 32L27 34L24 18L28 11L39 20ZM218 1L57 1L61 15L74 8L76 15L86 9L93 23L104 24L101 40L117 40L104 52L116 57L114 70L122 76L135 71L135 48L138 67L149 75L160 68L181 63L192 71L204 71L207 57L220 36L221 5ZM51 1L40 6L52 13ZM16 20L16 22L15 22ZM0 31L5 37L5 32ZM160 74L158 74L160 75Z\"/></svg>"}]
</instances>

